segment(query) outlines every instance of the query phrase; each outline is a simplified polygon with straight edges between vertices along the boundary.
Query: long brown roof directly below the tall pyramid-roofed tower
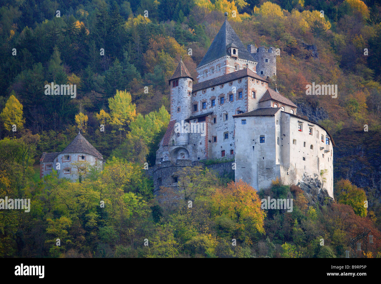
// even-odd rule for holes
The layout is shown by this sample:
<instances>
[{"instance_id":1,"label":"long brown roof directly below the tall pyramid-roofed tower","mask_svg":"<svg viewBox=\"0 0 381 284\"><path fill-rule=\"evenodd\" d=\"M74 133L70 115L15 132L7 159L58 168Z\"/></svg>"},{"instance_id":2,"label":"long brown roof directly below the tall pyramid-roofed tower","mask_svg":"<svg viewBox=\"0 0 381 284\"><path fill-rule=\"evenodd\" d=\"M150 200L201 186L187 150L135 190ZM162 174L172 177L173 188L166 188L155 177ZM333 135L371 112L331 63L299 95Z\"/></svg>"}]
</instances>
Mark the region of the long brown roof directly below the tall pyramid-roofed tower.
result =
<instances>
[{"instance_id":1,"label":"long brown roof directly below the tall pyramid-roofed tower","mask_svg":"<svg viewBox=\"0 0 381 284\"><path fill-rule=\"evenodd\" d=\"M219 77L207 80L207 81L197 83L197 84L193 85L192 93L196 92L196 91L200 91L202 89L212 87L212 86L221 85L221 84L226 83L226 82L237 80L239 78L244 78L247 76L255 78L257 80L261 80L261 81L266 82L266 83L269 83L269 81L267 81L264 78L262 78L261 76L257 75L257 73L251 71L248 68L245 68L245 69L241 69L239 71L235 71L235 72L232 72L229 74L225 74L223 76L219 76Z\"/></svg>"}]
</instances>

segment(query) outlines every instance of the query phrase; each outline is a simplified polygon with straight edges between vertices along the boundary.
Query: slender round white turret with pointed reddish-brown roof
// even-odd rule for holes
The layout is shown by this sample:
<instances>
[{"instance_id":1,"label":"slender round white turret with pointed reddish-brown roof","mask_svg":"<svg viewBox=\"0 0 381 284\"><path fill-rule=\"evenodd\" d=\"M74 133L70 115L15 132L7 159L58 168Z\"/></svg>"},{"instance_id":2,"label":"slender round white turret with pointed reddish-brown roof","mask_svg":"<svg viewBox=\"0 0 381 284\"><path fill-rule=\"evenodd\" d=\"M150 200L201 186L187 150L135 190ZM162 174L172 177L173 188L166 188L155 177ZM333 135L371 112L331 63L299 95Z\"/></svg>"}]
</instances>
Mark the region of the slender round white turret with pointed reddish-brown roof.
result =
<instances>
[{"instance_id":1,"label":"slender round white turret with pointed reddish-brown roof","mask_svg":"<svg viewBox=\"0 0 381 284\"><path fill-rule=\"evenodd\" d=\"M171 86L171 118L181 123L192 113L192 81L184 62L180 59L172 77L168 80Z\"/></svg>"}]
</instances>

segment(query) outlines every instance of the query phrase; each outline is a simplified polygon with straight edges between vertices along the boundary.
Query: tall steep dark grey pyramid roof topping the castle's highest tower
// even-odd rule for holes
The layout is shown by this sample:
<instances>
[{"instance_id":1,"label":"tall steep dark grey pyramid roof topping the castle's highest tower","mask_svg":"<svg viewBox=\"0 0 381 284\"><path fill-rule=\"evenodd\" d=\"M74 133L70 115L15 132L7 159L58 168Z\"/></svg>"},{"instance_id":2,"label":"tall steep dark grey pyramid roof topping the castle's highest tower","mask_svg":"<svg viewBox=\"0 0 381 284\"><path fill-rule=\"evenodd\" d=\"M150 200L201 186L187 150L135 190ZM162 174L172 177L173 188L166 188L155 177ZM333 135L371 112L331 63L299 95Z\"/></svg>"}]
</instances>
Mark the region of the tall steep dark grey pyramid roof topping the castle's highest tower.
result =
<instances>
[{"instance_id":1,"label":"tall steep dark grey pyramid roof topping the castle's highest tower","mask_svg":"<svg viewBox=\"0 0 381 284\"><path fill-rule=\"evenodd\" d=\"M205 65L220 57L230 55L227 53L227 45L231 44L232 42L238 48L238 58L255 61L255 59L246 50L245 46L233 30L232 26L230 26L229 22L225 19L221 29L219 29L219 32L209 46L207 53L205 53L205 56L197 67Z\"/></svg>"}]
</instances>

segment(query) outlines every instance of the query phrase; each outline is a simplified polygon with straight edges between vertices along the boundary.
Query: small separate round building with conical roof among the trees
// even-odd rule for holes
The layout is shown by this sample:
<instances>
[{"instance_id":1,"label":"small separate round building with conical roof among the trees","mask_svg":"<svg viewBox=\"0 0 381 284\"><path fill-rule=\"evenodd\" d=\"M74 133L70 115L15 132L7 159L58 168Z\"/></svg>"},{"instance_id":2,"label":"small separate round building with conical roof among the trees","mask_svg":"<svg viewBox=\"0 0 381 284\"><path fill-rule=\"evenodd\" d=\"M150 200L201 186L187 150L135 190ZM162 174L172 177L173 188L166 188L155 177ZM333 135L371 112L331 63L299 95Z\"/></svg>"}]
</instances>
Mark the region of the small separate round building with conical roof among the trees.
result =
<instances>
[{"instance_id":1,"label":"small separate round building with conical roof among the trees","mask_svg":"<svg viewBox=\"0 0 381 284\"><path fill-rule=\"evenodd\" d=\"M79 163L78 163L79 162ZM82 134L74 138L61 152L43 152L40 158L40 179L51 174L52 169L57 170L58 178L66 177L71 181L78 179L78 168L83 168L81 175L86 174L87 166L103 167L102 154L86 140Z\"/></svg>"}]
</instances>

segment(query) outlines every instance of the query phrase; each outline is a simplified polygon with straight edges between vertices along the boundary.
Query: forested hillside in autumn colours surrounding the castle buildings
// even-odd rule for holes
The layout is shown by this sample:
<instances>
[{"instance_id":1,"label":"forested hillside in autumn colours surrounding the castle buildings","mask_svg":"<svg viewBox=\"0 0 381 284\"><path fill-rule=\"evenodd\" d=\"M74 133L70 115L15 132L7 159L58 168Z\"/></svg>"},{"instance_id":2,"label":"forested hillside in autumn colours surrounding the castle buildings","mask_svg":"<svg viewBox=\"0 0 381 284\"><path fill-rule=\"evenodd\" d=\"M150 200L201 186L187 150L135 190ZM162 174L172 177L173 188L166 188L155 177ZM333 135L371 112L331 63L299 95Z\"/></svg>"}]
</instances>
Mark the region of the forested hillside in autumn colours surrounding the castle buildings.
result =
<instances>
[{"instance_id":1,"label":"forested hillside in autumn colours surrounding the castle buildings","mask_svg":"<svg viewBox=\"0 0 381 284\"><path fill-rule=\"evenodd\" d=\"M0 211L0 257L344 257L364 227L375 239L367 256L381 256L377 1L2 3L0 198L32 204L30 214ZM154 198L142 168L154 164L168 125L168 78L181 56L197 78L224 12L244 45L279 48L270 86L330 131L334 202L312 206L299 187L274 181L268 195L294 198L294 211L266 212L264 193L197 168L179 173L181 191ZM75 84L76 97L46 96L52 82ZM338 85L337 98L307 96L312 82ZM102 153L104 171L81 183L40 180L42 152L63 150L78 131ZM99 200L109 205L102 210Z\"/></svg>"}]
</instances>

